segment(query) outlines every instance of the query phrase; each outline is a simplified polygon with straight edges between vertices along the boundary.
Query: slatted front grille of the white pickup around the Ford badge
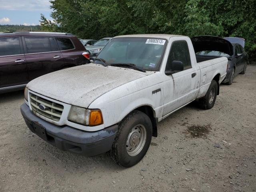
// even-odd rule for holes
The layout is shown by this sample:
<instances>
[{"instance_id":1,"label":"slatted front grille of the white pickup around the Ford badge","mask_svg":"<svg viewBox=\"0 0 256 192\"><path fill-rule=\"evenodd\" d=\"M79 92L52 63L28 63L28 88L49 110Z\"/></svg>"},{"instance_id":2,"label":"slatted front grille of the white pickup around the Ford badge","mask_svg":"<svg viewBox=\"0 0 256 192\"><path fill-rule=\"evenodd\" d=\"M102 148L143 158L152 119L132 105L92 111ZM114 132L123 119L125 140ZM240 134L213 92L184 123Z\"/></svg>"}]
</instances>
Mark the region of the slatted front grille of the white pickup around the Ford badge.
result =
<instances>
[{"instance_id":1,"label":"slatted front grille of the white pickup around the Ford badge","mask_svg":"<svg viewBox=\"0 0 256 192\"><path fill-rule=\"evenodd\" d=\"M39 106L40 104L41 107L44 106L45 109L41 109ZM30 106L34 112L39 113L42 116L45 116L46 118L52 119L54 121L60 120L62 111L64 109L63 105L57 104L50 100L46 100L32 93L30 93Z\"/></svg>"}]
</instances>

